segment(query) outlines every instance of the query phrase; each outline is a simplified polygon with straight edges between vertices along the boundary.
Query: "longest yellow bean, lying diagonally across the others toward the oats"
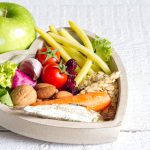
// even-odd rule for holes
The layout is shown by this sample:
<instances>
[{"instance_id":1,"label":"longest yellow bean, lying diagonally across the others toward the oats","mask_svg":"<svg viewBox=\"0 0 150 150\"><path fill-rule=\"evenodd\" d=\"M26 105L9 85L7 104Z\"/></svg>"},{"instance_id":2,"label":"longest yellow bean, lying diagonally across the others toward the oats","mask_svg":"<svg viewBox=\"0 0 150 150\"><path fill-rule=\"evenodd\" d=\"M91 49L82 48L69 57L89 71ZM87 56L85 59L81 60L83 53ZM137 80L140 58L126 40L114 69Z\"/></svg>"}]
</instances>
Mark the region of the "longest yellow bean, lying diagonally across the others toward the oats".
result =
<instances>
[{"instance_id":1,"label":"longest yellow bean, lying diagonally across the others toward the oats","mask_svg":"<svg viewBox=\"0 0 150 150\"><path fill-rule=\"evenodd\" d=\"M48 33L51 37L53 37L57 42L61 44L69 44L70 46L73 46L74 48L78 49L81 53L86 55L88 58L90 58L93 62L97 63L100 68L106 73L110 74L111 70L109 69L108 65L95 53L91 52L88 48L81 44L77 44L76 42L73 42L70 39L67 39L65 37L56 35L54 33Z\"/></svg>"}]
</instances>

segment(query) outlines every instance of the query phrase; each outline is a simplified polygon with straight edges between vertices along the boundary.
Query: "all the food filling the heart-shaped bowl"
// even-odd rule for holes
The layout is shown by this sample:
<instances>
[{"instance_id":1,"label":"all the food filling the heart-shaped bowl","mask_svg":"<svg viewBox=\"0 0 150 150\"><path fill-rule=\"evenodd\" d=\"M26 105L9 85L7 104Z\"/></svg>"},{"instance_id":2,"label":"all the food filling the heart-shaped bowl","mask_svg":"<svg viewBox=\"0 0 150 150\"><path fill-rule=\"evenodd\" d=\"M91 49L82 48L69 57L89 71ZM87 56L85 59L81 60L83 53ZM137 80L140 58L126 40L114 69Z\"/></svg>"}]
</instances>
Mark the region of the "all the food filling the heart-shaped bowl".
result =
<instances>
[{"instance_id":1,"label":"all the food filling the heart-shaped bowl","mask_svg":"<svg viewBox=\"0 0 150 150\"><path fill-rule=\"evenodd\" d=\"M89 39L75 22L70 29L36 27L44 44L34 58L0 65L0 102L28 115L97 122L115 117L119 72L110 69L112 45Z\"/></svg>"}]
</instances>

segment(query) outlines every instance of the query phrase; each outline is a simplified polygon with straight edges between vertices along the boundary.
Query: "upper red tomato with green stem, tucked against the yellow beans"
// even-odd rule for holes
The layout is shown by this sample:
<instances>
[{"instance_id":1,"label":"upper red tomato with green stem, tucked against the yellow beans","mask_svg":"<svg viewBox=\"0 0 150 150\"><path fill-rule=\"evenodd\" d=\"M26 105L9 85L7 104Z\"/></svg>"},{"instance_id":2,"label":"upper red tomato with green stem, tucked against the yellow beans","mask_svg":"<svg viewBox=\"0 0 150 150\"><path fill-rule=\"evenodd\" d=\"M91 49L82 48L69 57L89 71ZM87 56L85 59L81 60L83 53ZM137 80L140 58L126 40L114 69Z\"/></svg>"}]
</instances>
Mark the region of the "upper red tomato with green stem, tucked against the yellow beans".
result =
<instances>
[{"instance_id":1,"label":"upper red tomato with green stem, tucked against the yellow beans","mask_svg":"<svg viewBox=\"0 0 150 150\"><path fill-rule=\"evenodd\" d=\"M37 51L36 59L38 59L43 66L48 64L58 63L60 61L60 53L57 49L43 47Z\"/></svg>"}]
</instances>

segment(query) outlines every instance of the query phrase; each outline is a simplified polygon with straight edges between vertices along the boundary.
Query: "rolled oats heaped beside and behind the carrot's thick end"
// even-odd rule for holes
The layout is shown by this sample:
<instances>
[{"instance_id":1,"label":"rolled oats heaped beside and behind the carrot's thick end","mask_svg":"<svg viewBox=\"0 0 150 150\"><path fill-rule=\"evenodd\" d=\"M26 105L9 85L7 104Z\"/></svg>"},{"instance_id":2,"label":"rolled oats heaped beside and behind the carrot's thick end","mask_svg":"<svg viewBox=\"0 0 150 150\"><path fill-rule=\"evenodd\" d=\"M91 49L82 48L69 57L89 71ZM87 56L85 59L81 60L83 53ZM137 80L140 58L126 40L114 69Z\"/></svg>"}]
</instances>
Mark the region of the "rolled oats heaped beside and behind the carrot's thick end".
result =
<instances>
[{"instance_id":1,"label":"rolled oats heaped beside and behind the carrot's thick end","mask_svg":"<svg viewBox=\"0 0 150 150\"><path fill-rule=\"evenodd\" d=\"M101 112L104 120L111 120L115 117L119 93L117 79L119 76L120 72L113 72L111 75L107 75L104 72L98 72L87 76L87 78L79 85L81 94L105 91L110 95L112 99L111 105Z\"/></svg>"}]
</instances>

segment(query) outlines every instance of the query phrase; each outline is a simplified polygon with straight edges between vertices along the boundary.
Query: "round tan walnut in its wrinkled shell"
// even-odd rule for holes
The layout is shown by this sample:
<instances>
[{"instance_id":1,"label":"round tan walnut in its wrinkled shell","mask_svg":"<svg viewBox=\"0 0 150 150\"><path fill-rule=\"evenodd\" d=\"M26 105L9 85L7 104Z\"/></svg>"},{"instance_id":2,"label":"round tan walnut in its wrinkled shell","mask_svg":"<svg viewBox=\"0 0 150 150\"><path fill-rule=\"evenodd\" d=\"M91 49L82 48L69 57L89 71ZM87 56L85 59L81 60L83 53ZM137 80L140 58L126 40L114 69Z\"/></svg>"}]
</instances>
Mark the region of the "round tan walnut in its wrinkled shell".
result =
<instances>
[{"instance_id":1,"label":"round tan walnut in its wrinkled shell","mask_svg":"<svg viewBox=\"0 0 150 150\"><path fill-rule=\"evenodd\" d=\"M32 86L21 85L16 87L10 94L14 106L28 106L36 102L37 94Z\"/></svg>"}]
</instances>

